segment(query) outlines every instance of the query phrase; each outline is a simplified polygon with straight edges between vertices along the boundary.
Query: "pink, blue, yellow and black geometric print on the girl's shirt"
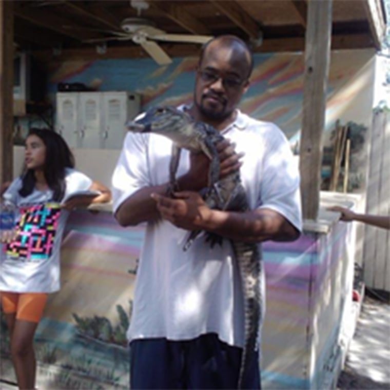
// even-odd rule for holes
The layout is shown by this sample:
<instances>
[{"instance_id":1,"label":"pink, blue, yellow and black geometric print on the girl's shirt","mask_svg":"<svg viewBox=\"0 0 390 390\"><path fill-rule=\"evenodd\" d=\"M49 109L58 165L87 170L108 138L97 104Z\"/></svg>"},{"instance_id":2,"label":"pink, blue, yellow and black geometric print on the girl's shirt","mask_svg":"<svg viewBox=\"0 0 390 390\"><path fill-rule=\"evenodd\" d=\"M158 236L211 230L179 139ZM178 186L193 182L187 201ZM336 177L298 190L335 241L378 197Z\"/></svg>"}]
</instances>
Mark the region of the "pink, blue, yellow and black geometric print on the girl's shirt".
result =
<instances>
[{"instance_id":1,"label":"pink, blue, yellow and black geometric print on the girl's shirt","mask_svg":"<svg viewBox=\"0 0 390 390\"><path fill-rule=\"evenodd\" d=\"M59 203L42 203L20 208L15 239L7 244L7 257L21 261L44 261L50 258L58 227Z\"/></svg>"}]
</instances>

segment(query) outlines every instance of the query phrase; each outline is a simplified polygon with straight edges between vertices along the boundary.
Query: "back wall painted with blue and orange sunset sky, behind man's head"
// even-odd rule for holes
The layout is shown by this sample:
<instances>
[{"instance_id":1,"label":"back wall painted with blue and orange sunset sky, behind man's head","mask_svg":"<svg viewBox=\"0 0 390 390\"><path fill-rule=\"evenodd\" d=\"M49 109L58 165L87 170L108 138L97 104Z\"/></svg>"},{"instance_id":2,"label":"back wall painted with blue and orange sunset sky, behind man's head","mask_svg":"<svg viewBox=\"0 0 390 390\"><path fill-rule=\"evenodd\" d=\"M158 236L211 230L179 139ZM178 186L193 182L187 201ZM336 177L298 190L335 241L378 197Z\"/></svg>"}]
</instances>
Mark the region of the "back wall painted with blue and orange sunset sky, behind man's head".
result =
<instances>
[{"instance_id":1,"label":"back wall painted with blue and orange sunset sky, behind man's head","mask_svg":"<svg viewBox=\"0 0 390 390\"><path fill-rule=\"evenodd\" d=\"M299 138L304 59L302 53L255 54L251 87L241 109L257 119L275 122L292 142ZM156 104L190 103L196 57L175 58L159 67L150 59L52 63L48 92L55 102L59 83L83 83L93 90L140 93L142 109ZM373 106L375 52L332 52L326 128L337 119L369 126Z\"/></svg>"}]
</instances>

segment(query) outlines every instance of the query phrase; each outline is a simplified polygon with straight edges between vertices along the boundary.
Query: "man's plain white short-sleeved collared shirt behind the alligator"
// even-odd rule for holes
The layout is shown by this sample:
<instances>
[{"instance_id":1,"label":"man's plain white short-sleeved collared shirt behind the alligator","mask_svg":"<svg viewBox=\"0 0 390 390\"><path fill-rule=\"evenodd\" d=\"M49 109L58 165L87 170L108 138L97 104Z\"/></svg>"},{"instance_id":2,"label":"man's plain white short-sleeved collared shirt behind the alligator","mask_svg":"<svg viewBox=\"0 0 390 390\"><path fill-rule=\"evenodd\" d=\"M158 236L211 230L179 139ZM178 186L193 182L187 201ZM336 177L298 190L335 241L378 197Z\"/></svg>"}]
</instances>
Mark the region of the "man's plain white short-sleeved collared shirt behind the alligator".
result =
<instances>
[{"instance_id":1,"label":"man's plain white short-sleeved collared shirt behind the alligator","mask_svg":"<svg viewBox=\"0 0 390 390\"><path fill-rule=\"evenodd\" d=\"M282 131L238 111L222 134L245 152L240 173L250 208L276 210L301 230L298 166ZM168 182L170 155L171 141L161 135L126 135L112 178L114 212L140 188ZM178 177L188 169L183 150ZM230 242L211 249L202 235L184 252L187 235L165 220L147 224L128 339L216 333L242 347L243 293Z\"/></svg>"}]
</instances>

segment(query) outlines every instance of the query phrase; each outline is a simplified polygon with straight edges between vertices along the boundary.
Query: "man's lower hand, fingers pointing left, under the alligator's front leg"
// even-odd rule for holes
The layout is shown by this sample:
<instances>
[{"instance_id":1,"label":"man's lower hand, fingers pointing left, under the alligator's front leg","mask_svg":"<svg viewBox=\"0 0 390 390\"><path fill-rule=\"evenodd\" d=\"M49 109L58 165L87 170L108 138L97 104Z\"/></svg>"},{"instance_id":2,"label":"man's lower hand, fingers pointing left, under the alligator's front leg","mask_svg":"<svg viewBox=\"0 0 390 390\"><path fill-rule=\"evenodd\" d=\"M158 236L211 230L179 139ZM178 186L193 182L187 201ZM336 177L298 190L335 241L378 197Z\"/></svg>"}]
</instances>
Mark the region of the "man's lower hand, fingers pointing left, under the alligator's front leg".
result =
<instances>
[{"instance_id":1,"label":"man's lower hand, fingers pointing left, under the alligator's front leg","mask_svg":"<svg viewBox=\"0 0 390 390\"><path fill-rule=\"evenodd\" d=\"M199 229L211 210L198 192L175 192L174 199L152 193L161 217L186 230Z\"/></svg>"}]
</instances>

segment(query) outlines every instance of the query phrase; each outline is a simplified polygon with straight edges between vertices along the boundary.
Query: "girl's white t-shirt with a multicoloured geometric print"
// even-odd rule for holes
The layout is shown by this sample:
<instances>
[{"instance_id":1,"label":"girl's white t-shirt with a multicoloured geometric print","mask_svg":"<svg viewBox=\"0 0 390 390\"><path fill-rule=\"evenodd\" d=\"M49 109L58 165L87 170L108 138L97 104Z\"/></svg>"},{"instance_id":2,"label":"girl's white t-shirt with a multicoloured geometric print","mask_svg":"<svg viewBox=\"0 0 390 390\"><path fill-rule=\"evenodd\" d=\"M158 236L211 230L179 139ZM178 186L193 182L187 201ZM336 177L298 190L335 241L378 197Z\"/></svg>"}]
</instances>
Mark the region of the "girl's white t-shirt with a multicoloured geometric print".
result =
<instances>
[{"instance_id":1,"label":"girl's white t-shirt with a multicoloured geometric print","mask_svg":"<svg viewBox=\"0 0 390 390\"><path fill-rule=\"evenodd\" d=\"M92 180L75 169L66 169L64 199L87 190ZM52 201L49 189L34 189L27 197L15 179L5 193L17 207L18 233L14 241L1 247L0 291L53 293L60 289L60 250L69 211Z\"/></svg>"}]
</instances>

